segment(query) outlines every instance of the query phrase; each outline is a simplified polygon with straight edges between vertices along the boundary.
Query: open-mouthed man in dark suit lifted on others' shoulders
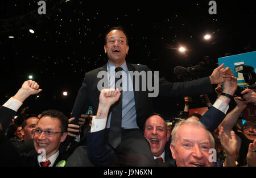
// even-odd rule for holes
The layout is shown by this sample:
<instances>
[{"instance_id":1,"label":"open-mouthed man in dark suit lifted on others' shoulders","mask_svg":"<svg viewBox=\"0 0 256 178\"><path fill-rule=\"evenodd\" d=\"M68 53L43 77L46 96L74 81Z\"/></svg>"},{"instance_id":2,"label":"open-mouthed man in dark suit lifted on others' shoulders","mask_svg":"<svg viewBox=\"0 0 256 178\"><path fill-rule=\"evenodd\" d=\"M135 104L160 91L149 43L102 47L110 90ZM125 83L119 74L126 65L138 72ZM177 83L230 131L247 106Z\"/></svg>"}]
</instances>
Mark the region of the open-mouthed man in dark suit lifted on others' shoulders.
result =
<instances>
[{"instance_id":1,"label":"open-mouthed man in dark suit lifted on others' shoulders","mask_svg":"<svg viewBox=\"0 0 256 178\"><path fill-rule=\"evenodd\" d=\"M143 90L143 84L146 84L144 83L146 80L155 84L154 92L159 94L159 96L192 96L213 92L211 84L223 82L224 78L230 77L232 73L229 68L222 68L224 67L224 64L222 64L214 70L210 77L200 78L195 81L171 83L162 78L158 78L156 75L150 73L151 71L146 65L126 63L125 57L129 51L128 38L125 31L120 27L114 27L107 32L104 50L109 61L103 67L94 69L85 74L84 81L82 82L82 86L73 106L72 116L76 118L74 124L78 125L80 114L83 114L88 109L89 105L93 106L93 110L97 110L100 90L102 88L112 88L110 86L115 86L115 74L118 73L115 69L121 67L122 76L127 76L122 78L122 85L126 85L127 83L126 88L132 88L133 90L122 91L122 99L120 100L121 107L119 107L121 109L117 109L119 104L110 109L106 126L106 139L109 139L109 143L118 156L120 165L150 166L155 164L150 148L148 147L148 142L142 133L144 122L154 113L152 98L148 97L152 90L150 88ZM131 72L136 71L138 73L144 72L146 78L139 76L144 79L139 80L139 82L136 82L133 78L131 79ZM107 73L107 77L105 75L102 79L102 76L100 76L102 73ZM150 76L151 74L152 76ZM101 85L102 83L104 86ZM116 110L119 110L118 117ZM114 119L112 115L115 115L115 117L113 117ZM115 132L119 132L119 134L111 136L112 133L114 133L112 128L116 127L114 123L112 125L112 121L116 122L114 121L115 119L121 122L121 124L119 123L119 130L115 130ZM112 143L113 141L114 143ZM144 159L140 161L138 161L138 159L134 159L134 161L130 159L127 161L127 152L137 156L144 155ZM143 160L146 161L144 162Z\"/></svg>"}]
</instances>

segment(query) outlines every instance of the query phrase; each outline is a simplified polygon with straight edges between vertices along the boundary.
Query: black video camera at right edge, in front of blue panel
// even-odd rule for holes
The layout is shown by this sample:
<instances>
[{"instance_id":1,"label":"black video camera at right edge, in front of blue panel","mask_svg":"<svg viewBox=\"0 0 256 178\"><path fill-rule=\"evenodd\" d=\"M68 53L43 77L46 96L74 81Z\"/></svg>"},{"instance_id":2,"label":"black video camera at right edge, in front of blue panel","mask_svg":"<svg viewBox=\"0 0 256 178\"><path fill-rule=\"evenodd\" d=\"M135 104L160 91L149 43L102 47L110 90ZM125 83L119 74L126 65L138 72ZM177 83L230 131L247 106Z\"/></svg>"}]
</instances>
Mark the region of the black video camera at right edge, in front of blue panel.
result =
<instances>
[{"instance_id":1,"label":"black video camera at right edge, in front of blue panel","mask_svg":"<svg viewBox=\"0 0 256 178\"><path fill-rule=\"evenodd\" d=\"M234 97L243 97L243 94L241 92L245 90L246 88L249 89L256 89L256 73L254 72L254 68L250 65L237 65L234 70L238 73L243 73L243 78L245 79L245 82L249 85L246 85L244 88L241 86L237 86L237 90L234 93Z\"/></svg>"}]
</instances>

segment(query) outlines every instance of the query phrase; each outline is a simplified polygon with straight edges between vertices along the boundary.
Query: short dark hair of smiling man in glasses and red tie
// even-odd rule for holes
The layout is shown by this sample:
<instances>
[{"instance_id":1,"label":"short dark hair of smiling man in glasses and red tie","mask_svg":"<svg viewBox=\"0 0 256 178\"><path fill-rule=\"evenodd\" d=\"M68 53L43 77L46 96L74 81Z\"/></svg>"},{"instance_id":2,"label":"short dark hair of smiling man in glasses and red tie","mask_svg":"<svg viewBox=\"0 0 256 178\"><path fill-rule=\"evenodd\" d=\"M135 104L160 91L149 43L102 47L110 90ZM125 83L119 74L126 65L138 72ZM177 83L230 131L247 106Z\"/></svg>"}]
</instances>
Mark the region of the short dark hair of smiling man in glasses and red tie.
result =
<instances>
[{"instance_id":1,"label":"short dark hair of smiling man in glasses and red tie","mask_svg":"<svg viewBox=\"0 0 256 178\"><path fill-rule=\"evenodd\" d=\"M40 119L44 116L59 119L61 122L61 126L60 126L61 132L66 133L68 131L68 117L65 114L63 114L61 111L47 110L47 111L43 111L43 113L41 113L41 114L42 115L41 115Z\"/></svg>"}]
</instances>

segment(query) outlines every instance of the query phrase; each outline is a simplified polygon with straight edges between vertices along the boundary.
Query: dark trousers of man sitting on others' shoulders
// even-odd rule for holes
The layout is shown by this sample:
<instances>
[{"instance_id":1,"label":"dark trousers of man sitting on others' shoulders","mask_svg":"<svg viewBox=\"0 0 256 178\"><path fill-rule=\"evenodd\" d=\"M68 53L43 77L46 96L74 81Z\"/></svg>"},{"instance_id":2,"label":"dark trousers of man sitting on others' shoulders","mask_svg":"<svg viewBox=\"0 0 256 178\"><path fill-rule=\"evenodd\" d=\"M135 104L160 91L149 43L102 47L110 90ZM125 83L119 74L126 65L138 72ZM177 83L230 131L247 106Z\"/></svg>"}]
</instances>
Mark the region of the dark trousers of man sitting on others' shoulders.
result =
<instances>
[{"instance_id":1,"label":"dark trousers of man sitting on others' shoulders","mask_svg":"<svg viewBox=\"0 0 256 178\"><path fill-rule=\"evenodd\" d=\"M120 166L156 166L150 144L140 129L122 129L121 134L121 144L114 150ZM106 142L108 135L109 129L106 130Z\"/></svg>"}]
</instances>

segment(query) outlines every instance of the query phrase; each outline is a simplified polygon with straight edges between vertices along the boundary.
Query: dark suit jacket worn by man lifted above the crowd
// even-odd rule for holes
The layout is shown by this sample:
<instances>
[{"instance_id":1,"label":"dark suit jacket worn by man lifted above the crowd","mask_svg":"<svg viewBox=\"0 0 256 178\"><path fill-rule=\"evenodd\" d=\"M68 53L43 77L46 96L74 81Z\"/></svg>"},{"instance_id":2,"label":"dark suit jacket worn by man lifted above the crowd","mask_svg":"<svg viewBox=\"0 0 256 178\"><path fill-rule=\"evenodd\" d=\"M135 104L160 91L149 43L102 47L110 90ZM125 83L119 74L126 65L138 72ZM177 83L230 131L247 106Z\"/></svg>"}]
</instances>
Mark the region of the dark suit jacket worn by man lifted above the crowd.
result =
<instances>
[{"instance_id":1,"label":"dark suit jacket worn by man lifted above the crowd","mask_svg":"<svg viewBox=\"0 0 256 178\"><path fill-rule=\"evenodd\" d=\"M127 64L129 71L150 71L146 65ZM92 105L93 110L98 110L100 91L97 89L97 84L102 78L97 78L97 74L100 71L107 71L107 64L103 67L94 69L93 71L85 73L84 81L79 89L76 97L75 104L72 110L72 117L75 117L74 124L78 124L80 114L84 114L88 110L88 106ZM135 81L134 81L135 82ZM142 81L139 81L140 86ZM154 84L154 82L152 82ZM104 86L108 88L108 86ZM143 129L146 119L154 113L152 104L152 98L148 97L149 91L135 91L134 88L134 100L135 109L137 113L137 125L140 129ZM187 82L175 82L171 83L163 78L159 78L159 96L166 97L180 97L180 96L193 96L205 93L212 93L212 85L210 85L209 77L200 78L194 81Z\"/></svg>"}]
</instances>

